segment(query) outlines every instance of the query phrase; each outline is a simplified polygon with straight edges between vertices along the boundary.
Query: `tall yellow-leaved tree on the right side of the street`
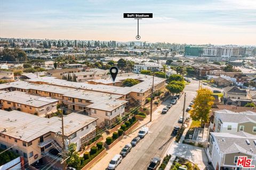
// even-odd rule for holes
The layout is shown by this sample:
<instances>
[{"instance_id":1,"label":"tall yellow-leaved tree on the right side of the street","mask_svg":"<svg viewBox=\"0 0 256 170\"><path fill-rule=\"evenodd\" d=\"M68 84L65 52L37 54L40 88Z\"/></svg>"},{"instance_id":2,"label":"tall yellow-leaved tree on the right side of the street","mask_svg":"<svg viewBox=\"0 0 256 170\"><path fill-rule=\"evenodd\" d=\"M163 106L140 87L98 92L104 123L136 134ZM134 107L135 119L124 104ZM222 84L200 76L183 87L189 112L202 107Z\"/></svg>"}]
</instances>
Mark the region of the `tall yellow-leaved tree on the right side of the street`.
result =
<instances>
[{"instance_id":1,"label":"tall yellow-leaved tree on the right side of the street","mask_svg":"<svg viewBox=\"0 0 256 170\"><path fill-rule=\"evenodd\" d=\"M195 104L192 106L191 111L189 111L192 120L201 121L201 125L208 122L213 101L214 97L210 89L202 88L197 90Z\"/></svg>"}]
</instances>

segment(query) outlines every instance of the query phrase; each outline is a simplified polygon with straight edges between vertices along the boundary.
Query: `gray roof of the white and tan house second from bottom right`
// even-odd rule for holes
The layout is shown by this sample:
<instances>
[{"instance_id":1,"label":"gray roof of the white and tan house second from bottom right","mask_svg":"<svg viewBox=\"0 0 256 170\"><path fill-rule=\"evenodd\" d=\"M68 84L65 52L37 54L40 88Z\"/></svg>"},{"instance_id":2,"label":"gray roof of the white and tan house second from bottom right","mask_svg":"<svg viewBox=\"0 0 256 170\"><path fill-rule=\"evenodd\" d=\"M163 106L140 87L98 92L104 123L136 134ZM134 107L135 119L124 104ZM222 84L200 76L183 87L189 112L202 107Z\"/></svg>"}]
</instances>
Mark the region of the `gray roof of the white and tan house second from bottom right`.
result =
<instances>
[{"instance_id":1,"label":"gray roof of the white and tan house second from bottom right","mask_svg":"<svg viewBox=\"0 0 256 170\"><path fill-rule=\"evenodd\" d=\"M221 122L233 122L233 123L242 123L242 122L254 122L256 123L256 113L254 112L241 112L235 113L223 109L221 111L215 111L215 117L221 120Z\"/></svg>"}]
</instances>

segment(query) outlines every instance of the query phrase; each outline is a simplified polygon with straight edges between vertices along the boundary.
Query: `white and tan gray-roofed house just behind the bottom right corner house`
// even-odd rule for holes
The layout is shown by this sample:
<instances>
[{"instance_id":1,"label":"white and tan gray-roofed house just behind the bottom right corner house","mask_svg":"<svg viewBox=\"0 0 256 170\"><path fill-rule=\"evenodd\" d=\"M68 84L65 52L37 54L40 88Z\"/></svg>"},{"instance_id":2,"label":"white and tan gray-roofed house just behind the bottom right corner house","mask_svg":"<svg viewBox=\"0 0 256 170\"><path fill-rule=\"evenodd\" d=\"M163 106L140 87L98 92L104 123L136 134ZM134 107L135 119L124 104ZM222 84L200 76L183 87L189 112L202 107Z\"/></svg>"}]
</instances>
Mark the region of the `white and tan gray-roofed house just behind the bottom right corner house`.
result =
<instances>
[{"instance_id":1,"label":"white and tan gray-roofed house just behind the bottom right corner house","mask_svg":"<svg viewBox=\"0 0 256 170\"><path fill-rule=\"evenodd\" d=\"M213 131L221 133L246 132L256 135L256 113L232 112L227 109L215 111Z\"/></svg>"}]
</instances>

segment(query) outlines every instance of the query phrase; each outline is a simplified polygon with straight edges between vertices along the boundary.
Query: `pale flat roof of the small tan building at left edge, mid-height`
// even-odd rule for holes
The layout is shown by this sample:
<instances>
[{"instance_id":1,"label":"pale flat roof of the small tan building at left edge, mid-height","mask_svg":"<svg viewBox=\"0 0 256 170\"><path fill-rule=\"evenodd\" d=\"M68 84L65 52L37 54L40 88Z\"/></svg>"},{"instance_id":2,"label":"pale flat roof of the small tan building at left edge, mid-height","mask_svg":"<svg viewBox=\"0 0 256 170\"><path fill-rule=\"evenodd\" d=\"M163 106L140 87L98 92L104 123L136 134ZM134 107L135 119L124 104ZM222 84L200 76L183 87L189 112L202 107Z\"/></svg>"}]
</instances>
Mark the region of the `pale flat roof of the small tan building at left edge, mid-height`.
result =
<instances>
[{"instance_id":1,"label":"pale flat roof of the small tan building at left edge, mid-height","mask_svg":"<svg viewBox=\"0 0 256 170\"><path fill-rule=\"evenodd\" d=\"M59 101L52 98L28 95L26 92L21 91L7 92L3 90L0 91L0 99L33 107L42 107Z\"/></svg>"}]
</instances>

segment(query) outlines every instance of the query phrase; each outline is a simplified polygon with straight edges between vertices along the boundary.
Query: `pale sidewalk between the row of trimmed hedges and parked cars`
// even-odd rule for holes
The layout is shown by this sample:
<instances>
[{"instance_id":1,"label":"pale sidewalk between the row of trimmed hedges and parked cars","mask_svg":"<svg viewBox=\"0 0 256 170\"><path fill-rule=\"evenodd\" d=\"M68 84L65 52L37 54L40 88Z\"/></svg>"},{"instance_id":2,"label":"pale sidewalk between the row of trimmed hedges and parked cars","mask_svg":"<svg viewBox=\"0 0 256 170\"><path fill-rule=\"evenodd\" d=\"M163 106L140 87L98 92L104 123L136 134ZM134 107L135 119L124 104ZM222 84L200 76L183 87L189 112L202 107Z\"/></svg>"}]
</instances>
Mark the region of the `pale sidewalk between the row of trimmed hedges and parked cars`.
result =
<instances>
[{"instance_id":1,"label":"pale sidewalk between the row of trimmed hedges and parked cars","mask_svg":"<svg viewBox=\"0 0 256 170\"><path fill-rule=\"evenodd\" d=\"M119 154L119 152L122 150L122 148L127 144L130 143L131 140L134 137L137 137L138 135L138 131L141 128L142 125L146 126L150 126L155 120L157 120L157 118L161 115L162 113L162 109L167 105L167 103L169 103L169 100L163 102L160 106L157 107L156 111L153 112L152 114L152 122L150 121L150 115L147 115L147 117L143 120L140 121L139 126L137 127L137 129L135 129L135 131L133 131L132 133L130 133L129 135L124 136L124 138L117 142L116 145L114 147L112 147L111 149L107 150L107 155L105 157L103 157L97 164L95 164L91 169L92 170L100 170L100 169L106 169L109 161L116 155ZM150 132L150 129L149 129ZM104 139L105 141L106 139Z\"/></svg>"}]
</instances>

